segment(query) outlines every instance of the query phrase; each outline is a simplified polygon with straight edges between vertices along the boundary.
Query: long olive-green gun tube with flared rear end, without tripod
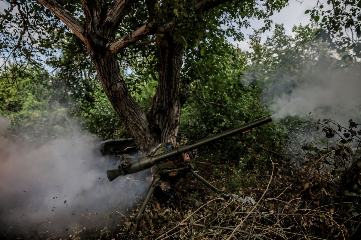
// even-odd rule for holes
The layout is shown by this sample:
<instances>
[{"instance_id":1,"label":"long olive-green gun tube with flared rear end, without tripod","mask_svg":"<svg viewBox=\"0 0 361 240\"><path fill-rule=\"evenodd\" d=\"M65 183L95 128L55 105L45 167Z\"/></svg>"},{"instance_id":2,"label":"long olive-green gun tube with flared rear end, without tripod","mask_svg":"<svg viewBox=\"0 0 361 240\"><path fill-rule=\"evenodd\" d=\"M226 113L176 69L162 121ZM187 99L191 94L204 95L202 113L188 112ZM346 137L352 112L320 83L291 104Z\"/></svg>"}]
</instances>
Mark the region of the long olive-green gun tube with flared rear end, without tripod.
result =
<instances>
[{"instance_id":1,"label":"long olive-green gun tube with flared rear end, without tripod","mask_svg":"<svg viewBox=\"0 0 361 240\"><path fill-rule=\"evenodd\" d=\"M134 162L131 162L130 164L121 164L118 166L118 169L114 170L108 170L106 172L109 181L113 181L118 176L132 174L136 172L143 171L145 169L153 167L156 163L161 162L162 160L169 159L173 156L180 155L182 153L186 153L187 151L191 151L193 149L199 148L201 146L207 145L212 142L216 142L219 140L222 140L226 137L238 134L238 133L246 133L251 131L252 128L258 127L262 124L271 122L272 119L270 116L265 116L262 118L259 118L255 121L245 123L242 126L235 127L232 129L229 129L227 131L217 133L213 136L205 137L204 139L201 139L196 142L190 142L186 145L179 146L178 148L171 149L169 151L166 151L164 153L158 154L158 155L148 155L143 158L139 158L138 160L135 160Z\"/></svg>"}]
</instances>

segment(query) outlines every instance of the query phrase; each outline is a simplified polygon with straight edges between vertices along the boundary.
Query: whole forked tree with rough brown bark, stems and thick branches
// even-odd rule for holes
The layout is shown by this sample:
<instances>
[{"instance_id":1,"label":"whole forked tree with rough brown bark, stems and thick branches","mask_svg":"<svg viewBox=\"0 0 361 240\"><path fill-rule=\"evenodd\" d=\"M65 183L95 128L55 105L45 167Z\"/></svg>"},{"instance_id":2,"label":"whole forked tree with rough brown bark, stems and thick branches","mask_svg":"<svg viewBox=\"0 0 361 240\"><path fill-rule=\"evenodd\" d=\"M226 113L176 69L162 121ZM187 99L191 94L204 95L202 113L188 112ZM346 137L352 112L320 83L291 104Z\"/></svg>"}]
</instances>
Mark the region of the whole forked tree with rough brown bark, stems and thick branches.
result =
<instances>
[{"instance_id":1,"label":"whole forked tree with rough brown bark, stems and thick branches","mask_svg":"<svg viewBox=\"0 0 361 240\"><path fill-rule=\"evenodd\" d=\"M181 114L179 74L183 44L170 35L174 22L162 26L155 19L153 0L147 0L150 22L116 39L116 30L129 13L133 0L82 0L85 23L82 24L56 0L37 0L61 19L87 47L105 94L119 114L141 151L149 152L161 142L175 142ZM205 0L194 5L195 11L206 11L229 0ZM159 20L159 19L158 19ZM157 21L160 23L161 21ZM156 35L159 51L158 88L151 111L144 113L130 95L121 76L117 54L136 41Z\"/></svg>"}]
</instances>

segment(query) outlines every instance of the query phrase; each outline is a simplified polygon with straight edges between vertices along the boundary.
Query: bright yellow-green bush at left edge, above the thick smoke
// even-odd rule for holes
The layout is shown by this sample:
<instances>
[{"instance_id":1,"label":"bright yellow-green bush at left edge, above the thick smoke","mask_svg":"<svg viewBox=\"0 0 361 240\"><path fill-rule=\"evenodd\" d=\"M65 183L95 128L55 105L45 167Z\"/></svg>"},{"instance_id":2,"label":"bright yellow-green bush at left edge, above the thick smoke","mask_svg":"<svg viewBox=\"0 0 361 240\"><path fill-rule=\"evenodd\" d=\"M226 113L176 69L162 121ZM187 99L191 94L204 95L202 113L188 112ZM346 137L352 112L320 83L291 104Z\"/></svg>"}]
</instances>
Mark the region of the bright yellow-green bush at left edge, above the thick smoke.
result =
<instances>
[{"instance_id":1,"label":"bright yellow-green bush at left edge, above the thick smoke","mask_svg":"<svg viewBox=\"0 0 361 240\"><path fill-rule=\"evenodd\" d=\"M18 141L39 140L41 144L68 134L74 122L68 108L52 102L57 92L49 74L35 67L12 72L17 75L0 77L0 115L11 122L10 137Z\"/></svg>"}]
</instances>

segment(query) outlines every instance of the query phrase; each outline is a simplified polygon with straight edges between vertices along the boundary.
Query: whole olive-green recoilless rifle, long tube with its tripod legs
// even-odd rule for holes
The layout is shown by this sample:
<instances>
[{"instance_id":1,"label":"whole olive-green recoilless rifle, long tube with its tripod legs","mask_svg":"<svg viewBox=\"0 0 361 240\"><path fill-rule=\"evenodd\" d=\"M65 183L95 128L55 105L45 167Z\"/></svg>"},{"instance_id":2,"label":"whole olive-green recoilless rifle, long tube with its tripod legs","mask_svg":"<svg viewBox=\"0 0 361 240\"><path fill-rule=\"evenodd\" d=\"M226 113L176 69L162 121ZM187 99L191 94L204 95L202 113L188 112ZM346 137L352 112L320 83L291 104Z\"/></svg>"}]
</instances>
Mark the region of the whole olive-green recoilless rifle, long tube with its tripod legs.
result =
<instances>
[{"instance_id":1,"label":"whole olive-green recoilless rifle, long tube with its tripod legs","mask_svg":"<svg viewBox=\"0 0 361 240\"><path fill-rule=\"evenodd\" d=\"M140 215L144 212L145 206L147 205L149 199L151 198L151 195L157 186L158 181L160 180L161 176L166 173L170 172L178 172L178 171L189 171L195 178L197 178L199 181L201 181L204 185L209 187L211 190L215 192L221 192L216 187L214 187L212 184L207 182L203 177L199 176L195 171L193 171L192 164L188 164L187 162L178 161L175 159L176 156L181 155L182 153L187 153L188 151L191 151L193 149L199 148L201 146L204 146L206 144L216 142L219 140L222 140L226 137L233 136L235 134L245 134L247 132L251 132L252 128L258 127L260 125L263 125L265 123L271 122L272 119L270 116L265 116L262 118L259 118L255 121L245 123L242 126L235 127L229 130L226 130L221 133L217 133L213 136L206 137L204 139L198 140L198 141L190 141L187 142L187 144L184 144L182 146L178 147L171 147L168 151L164 153L160 153L157 155L147 155L145 157L139 158L138 160L135 160L133 162L126 162L123 164L120 164L118 166L118 169L108 170L106 171L106 175L108 176L109 181L113 181L119 176L128 175L136 172L143 171L145 169L151 168L153 166L157 166L157 173L155 177L153 178L152 185L148 191L147 196L144 199L143 205L140 208L137 219L139 219ZM168 161L166 161L168 160ZM222 193L222 196L224 198L231 198L232 195Z\"/></svg>"}]
</instances>

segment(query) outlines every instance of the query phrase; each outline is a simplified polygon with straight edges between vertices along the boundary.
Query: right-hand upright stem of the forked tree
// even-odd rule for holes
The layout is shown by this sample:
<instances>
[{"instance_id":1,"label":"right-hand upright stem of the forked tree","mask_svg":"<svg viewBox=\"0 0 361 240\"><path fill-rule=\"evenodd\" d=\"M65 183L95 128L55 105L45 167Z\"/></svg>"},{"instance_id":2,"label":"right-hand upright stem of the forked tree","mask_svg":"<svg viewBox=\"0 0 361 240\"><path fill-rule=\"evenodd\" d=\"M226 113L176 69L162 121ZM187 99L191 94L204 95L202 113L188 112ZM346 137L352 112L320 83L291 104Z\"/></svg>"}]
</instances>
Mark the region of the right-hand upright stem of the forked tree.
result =
<instances>
[{"instance_id":1,"label":"right-hand upright stem of the forked tree","mask_svg":"<svg viewBox=\"0 0 361 240\"><path fill-rule=\"evenodd\" d=\"M159 51L158 88L147 114L156 142L176 142L181 116L179 74L183 44L170 35L156 36Z\"/></svg>"}]
</instances>

